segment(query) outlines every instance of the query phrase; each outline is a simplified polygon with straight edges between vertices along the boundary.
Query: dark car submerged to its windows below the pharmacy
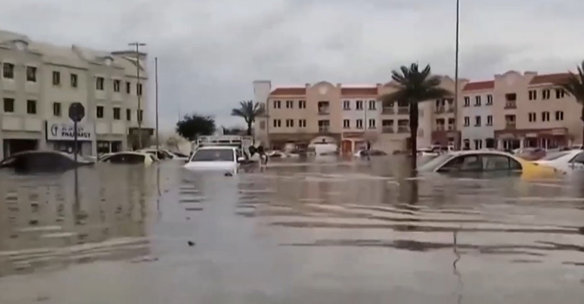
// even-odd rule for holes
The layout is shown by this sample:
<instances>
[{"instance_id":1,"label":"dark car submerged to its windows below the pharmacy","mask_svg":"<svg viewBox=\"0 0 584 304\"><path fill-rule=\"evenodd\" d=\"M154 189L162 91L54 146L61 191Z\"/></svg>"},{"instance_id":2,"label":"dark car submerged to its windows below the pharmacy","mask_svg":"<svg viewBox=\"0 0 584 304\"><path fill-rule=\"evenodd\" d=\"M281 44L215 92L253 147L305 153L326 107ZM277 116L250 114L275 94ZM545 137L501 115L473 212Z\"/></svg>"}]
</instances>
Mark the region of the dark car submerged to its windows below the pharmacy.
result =
<instances>
[{"instance_id":1,"label":"dark car submerged to its windows below the pharmacy","mask_svg":"<svg viewBox=\"0 0 584 304\"><path fill-rule=\"evenodd\" d=\"M79 166L94 164L92 160L77 155L59 151L25 151L15 153L0 162L0 168L11 168L17 171L66 171Z\"/></svg>"}]
</instances>

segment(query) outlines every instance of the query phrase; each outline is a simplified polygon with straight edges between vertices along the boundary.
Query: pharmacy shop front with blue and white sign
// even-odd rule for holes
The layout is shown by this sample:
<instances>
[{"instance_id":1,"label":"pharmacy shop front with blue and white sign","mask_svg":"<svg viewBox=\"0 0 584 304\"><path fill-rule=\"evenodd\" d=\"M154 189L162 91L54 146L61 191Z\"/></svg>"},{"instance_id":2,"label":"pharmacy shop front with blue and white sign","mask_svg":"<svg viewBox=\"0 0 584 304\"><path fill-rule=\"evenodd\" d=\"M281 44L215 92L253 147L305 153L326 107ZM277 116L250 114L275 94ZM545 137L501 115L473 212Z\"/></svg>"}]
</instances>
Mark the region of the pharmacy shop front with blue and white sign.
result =
<instances>
[{"instance_id":1,"label":"pharmacy shop front with blue and white sign","mask_svg":"<svg viewBox=\"0 0 584 304\"><path fill-rule=\"evenodd\" d=\"M95 140L93 124L77 124L77 151L81 155L92 154ZM75 126L73 122L46 122L47 149L73 153L75 151Z\"/></svg>"}]
</instances>

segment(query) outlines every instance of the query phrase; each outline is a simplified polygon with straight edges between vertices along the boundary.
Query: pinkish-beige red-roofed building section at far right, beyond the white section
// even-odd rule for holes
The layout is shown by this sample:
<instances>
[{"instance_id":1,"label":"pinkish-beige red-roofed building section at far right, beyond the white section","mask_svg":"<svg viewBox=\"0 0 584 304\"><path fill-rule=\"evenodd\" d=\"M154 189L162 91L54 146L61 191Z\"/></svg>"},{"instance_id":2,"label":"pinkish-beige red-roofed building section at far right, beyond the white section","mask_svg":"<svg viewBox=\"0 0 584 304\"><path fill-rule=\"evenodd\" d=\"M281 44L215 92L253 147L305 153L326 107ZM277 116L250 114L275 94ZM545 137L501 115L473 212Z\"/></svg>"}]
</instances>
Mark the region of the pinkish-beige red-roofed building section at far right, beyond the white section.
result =
<instances>
[{"instance_id":1,"label":"pinkish-beige red-roofed building section at far right, beyond the white section","mask_svg":"<svg viewBox=\"0 0 584 304\"><path fill-rule=\"evenodd\" d=\"M493 123L497 146L553 148L581 143L582 106L555 84L566 73L495 75Z\"/></svg>"}]
</instances>

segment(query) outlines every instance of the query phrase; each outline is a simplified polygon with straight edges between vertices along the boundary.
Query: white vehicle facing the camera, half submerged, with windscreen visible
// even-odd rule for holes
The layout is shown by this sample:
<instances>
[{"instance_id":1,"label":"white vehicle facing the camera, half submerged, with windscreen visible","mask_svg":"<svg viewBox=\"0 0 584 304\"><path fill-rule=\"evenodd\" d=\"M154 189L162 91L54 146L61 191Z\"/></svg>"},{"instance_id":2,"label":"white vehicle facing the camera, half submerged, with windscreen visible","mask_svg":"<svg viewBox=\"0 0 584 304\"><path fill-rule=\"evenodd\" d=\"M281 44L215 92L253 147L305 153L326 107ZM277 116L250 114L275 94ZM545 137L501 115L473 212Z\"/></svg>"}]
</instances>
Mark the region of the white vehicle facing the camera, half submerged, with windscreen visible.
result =
<instances>
[{"instance_id":1,"label":"white vehicle facing the camera, half submerged, with windscreen visible","mask_svg":"<svg viewBox=\"0 0 584 304\"><path fill-rule=\"evenodd\" d=\"M191 171L222 171L236 174L239 163L243 162L239 150L234 146L202 146L185 164Z\"/></svg>"}]
</instances>

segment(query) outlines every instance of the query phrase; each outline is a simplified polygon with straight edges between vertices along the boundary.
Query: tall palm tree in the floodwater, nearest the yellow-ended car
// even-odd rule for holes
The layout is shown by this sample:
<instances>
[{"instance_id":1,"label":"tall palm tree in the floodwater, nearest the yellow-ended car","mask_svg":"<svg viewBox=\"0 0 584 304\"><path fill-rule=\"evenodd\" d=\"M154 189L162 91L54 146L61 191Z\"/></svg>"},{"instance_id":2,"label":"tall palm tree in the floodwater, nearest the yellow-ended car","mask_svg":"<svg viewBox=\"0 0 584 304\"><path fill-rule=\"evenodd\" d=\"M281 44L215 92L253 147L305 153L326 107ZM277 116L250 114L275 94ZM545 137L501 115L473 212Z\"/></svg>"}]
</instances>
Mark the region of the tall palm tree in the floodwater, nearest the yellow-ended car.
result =
<instances>
[{"instance_id":1,"label":"tall palm tree in the floodwater, nearest the yellow-ended car","mask_svg":"<svg viewBox=\"0 0 584 304\"><path fill-rule=\"evenodd\" d=\"M402 66L399 70L391 72L393 87L396 90L379 97L386 106L395 102L406 102L410 106L410 148L411 148L411 169L417 169L417 127L418 127L418 103L434 99L449 97L452 93L440 87L440 77L431 75L431 68L428 64L420 70L418 64Z\"/></svg>"}]
</instances>

